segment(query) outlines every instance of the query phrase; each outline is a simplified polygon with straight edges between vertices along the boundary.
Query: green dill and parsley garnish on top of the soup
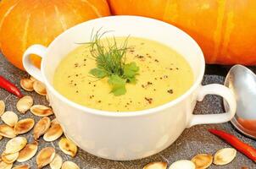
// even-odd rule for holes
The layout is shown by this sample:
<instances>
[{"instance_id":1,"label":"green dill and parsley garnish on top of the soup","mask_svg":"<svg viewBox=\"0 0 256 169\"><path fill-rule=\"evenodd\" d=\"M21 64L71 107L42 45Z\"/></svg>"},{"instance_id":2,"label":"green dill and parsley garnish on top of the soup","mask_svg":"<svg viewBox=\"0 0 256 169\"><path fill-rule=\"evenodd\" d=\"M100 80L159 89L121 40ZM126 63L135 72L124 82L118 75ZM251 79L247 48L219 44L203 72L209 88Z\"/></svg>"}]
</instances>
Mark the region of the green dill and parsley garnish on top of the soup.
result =
<instances>
[{"instance_id":1,"label":"green dill and parsley garnish on top of the soup","mask_svg":"<svg viewBox=\"0 0 256 169\"><path fill-rule=\"evenodd\" d=\"M126 93L125 84L136 84L136 74L138 74L139 67L136 63L126 63L125 54L127 52L127 41L118 46L115 38L113 44L104 46L101 38L103 34L99 31L91 37L90 52L97 63L97 68L92 68L90 74L97 79L109 78L109 85L112 86L111 92L114 95L124 95Z\"/></svg>"}]
</instances>

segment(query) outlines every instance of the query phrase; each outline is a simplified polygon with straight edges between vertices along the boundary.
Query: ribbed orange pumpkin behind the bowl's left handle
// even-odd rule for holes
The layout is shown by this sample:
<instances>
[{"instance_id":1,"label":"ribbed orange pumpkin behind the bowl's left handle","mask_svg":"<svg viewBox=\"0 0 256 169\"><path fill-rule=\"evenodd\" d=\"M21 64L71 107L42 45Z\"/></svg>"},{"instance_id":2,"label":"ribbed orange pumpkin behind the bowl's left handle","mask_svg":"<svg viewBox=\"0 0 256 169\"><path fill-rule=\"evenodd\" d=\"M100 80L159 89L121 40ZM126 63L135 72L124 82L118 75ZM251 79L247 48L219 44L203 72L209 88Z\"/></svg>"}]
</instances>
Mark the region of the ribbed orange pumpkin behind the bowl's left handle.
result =
<instances>
[{"instance_id":1,"label":"ribbed orange pumpkin behind the bowl's left handle","mask_svg":"<svg viewBox=\"0 0 256 169\"><path fill-rule=\"evenodd\" d=\"M109 14L105 0L2 0L0 48L10 63L24 69L22 55L28 46L48 46L71 26ZM31 61L39 67L39 57Z\"/></svg>"}]
</instances>

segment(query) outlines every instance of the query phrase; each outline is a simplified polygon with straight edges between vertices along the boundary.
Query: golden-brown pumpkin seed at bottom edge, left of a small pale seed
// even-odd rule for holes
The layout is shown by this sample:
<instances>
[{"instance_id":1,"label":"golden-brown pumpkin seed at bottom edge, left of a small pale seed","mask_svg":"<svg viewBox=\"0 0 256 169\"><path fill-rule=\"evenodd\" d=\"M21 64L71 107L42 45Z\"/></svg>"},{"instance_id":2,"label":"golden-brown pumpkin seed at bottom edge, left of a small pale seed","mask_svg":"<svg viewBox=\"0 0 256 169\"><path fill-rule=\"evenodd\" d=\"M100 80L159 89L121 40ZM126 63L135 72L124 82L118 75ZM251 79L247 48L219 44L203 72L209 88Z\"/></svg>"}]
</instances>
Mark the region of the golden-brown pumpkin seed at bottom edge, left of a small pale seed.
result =
<instances>
[{"instance_id":1,"label":"golden-brown pumpkin seed at bottom edge, left of a small pale seed","mask_svg":"<svg viewBox=\"0 0 256 169\"><path fill-rule=\"evenodd\" d=\"M53 149L53 147L46 147L42 149L36 156L37 167L42 168L43 166L47 166L53 161L54 156L55 150Z\"/></svg>"}]
</instances>

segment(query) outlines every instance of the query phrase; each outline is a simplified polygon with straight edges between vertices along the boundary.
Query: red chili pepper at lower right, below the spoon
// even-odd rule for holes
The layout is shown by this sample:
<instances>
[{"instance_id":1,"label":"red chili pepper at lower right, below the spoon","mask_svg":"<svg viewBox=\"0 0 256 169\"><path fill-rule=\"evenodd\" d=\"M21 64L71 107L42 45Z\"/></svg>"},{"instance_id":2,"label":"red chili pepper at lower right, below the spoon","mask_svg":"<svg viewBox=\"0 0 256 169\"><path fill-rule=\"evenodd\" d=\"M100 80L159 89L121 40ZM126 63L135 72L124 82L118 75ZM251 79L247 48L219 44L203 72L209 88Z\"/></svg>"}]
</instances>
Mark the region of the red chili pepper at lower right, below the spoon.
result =
<instances>
[{"instance_id":1,"label":"red chili pepper at lower right, below the spoon","mask_svg":"<svg viewBox=\"0 0 256 169\"><path fill-rule=\"evenodd\" d=\"M242 154L248 156L249 159L256 162L256 149L251 145L243 143L240 139L232 134L225 133L224 131L218 129L209 129L211 134L214 134L220 139L224 139L228 144L231 144L234 148L242 152Z\"/></svg>"}]
</instances>

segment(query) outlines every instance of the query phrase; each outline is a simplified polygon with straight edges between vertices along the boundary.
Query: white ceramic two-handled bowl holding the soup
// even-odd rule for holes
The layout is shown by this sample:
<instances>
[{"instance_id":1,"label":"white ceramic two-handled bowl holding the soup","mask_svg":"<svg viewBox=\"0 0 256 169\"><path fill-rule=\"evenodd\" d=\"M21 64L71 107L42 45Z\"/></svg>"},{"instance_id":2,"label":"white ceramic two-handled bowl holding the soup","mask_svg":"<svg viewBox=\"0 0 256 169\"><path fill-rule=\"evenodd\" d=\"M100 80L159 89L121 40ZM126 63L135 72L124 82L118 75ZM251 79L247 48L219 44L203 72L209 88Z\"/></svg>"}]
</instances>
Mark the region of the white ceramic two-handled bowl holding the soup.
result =
<instances>
[{"instance_id":1,"label":"white ceramic two-handled bowl holding the soup","mask_svg":"<svg viewBox=\"0 0 256 169\"><path fill-rule=\"evenodd\" d=\"M190 64L195 77L193 85L175 101L137 112L99 111L68 100L53 87L55 69L79 46L77 42L90 41L92 30L99 29L114 30L107 34L111 36L138 36L170 46ZM31 54L42 57L41 70L31 64ZM156 19L136 16L93 19L64 31L48 47L29 47L23 63L29 74L47 86L50 104L66 136L82 150L106 159L127 161L154 155L170 146L185 128L228 122L237 108L234 96L225 86L201 85L205 63L198 44L175 26ZM208 94L221 95L230 107L229 112L193 115L196 102Z\"/></svg>"}]
</instances>

